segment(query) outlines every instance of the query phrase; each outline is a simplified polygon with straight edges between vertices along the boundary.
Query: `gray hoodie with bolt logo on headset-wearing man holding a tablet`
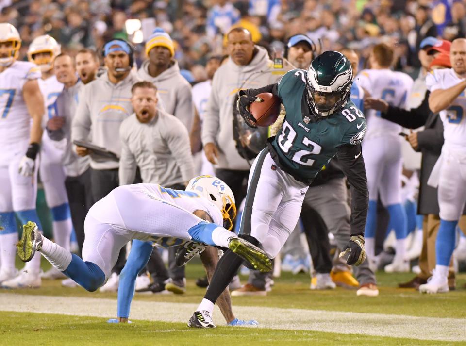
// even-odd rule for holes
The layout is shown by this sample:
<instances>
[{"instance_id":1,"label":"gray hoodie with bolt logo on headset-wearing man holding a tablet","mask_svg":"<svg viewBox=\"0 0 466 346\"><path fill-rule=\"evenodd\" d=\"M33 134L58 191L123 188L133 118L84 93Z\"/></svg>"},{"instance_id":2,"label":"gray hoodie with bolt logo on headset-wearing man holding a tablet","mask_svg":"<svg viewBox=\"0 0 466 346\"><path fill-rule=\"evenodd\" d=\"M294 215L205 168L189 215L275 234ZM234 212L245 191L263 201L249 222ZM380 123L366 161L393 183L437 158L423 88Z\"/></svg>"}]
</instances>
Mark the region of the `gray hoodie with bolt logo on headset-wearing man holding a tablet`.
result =
<instances>
[{"instance_id":1,"label":"gray hoodie with bolt logo on headset-wearing man holding a tablet","mask_svg":"<svg viewBox=\"0 0 466 346\"><path fill-rule=\"evenodd\" d=\"M133 114L131 87L138 82L131 71L123 80L114 84L104 73L98 79L85 85L80 93L80 101L71 128L71 139L89 141L92 144L120 155L120 125ZM91 168L116 169L118 162L91 154Z\"/></svg>"}]
</instances>

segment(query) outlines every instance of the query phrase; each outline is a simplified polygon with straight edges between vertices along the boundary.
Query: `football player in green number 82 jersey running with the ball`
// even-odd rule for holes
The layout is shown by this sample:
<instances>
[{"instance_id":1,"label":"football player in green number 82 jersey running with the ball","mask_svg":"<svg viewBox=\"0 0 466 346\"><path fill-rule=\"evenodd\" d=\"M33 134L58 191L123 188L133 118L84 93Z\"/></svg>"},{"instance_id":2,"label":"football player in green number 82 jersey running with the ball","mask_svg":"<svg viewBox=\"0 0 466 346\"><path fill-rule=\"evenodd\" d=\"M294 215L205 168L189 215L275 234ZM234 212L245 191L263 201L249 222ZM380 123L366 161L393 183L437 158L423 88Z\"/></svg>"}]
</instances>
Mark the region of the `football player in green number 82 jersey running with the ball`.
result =
<instances>
[{"instance_id":1,"label":"football player in green number 82 jersey running with the ball","mask_svg":"<svg viewBox=\"0 0 466 346\"><path fill-rule=\"evenodd\" d=\"M256 95L270 92L286 111L281 131L268 140L255 159L241 218L240 237L261 246L275 257L298 222L310 182L338 155L351 186L351 237L344 252L347 264L365 258L364 228L368 207L366 169L361 141L366 119L350 100L352 70L348 59L336 51L317 56L308 71L287 72L280 82L240 91L238 109L245 122L256 127L249 106ZM190 327L215 327L211 313L217 297L228 285L242 260L226 251Z\"/></svg>"}]
</instances>

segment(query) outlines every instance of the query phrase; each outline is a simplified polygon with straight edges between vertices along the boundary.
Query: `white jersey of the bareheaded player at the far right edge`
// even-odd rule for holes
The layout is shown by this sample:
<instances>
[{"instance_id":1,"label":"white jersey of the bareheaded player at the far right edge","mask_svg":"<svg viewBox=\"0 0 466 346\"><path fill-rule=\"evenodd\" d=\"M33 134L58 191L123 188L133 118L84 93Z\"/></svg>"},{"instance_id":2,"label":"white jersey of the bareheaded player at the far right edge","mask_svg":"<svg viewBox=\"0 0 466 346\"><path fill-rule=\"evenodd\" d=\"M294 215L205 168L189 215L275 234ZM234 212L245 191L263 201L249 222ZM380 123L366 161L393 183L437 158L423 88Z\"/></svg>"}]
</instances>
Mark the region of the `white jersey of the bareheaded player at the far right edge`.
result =
<instances>
[{"instance_id":1,"label":"white jersey of the bareheaded player at the far right edge","mask_svg":"<svg viewBox=\"0 0 466 346\"><path fill-rule=\"evenodd\" d=\"M438 89L448 89L463 79L459 78L452 68L434 70L427 75L427 88L432 93ZM443 122L443 136L445 144L461 146L466 148L466 93L463 92L451 103L451 105L440 111Z\"/></svg>"}]
</instances>

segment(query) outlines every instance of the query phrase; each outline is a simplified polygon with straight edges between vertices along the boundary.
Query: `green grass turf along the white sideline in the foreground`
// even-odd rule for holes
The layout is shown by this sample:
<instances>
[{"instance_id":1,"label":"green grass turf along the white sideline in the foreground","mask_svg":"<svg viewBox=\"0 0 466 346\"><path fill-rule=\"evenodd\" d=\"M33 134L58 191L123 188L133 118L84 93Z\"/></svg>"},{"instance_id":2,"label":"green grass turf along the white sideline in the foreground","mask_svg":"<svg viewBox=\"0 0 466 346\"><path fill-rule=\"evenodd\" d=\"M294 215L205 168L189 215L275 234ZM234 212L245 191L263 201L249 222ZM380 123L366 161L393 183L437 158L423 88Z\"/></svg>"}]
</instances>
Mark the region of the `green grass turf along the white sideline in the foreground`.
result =
<instances>
[{"instance_id":1,"label":"green grass turf along the white sideline in the foreground","mask_svg":"<svg viewBox=\"0 0 466 346\"><path fill-rule=\"evenodd\" d=\"M44 261L43 261L44 262ZM20 265L18 265L20 267ZM48 266L44 264L44 269ZM267 328L233 328L226 327L224 320L219 313L214 315L215 322L218 326L216 330L192 330L186 327L187 318L192 313L194 304L198 304L205 292L195 286L194 281L197 277L203 275L203 269L199 263L190 264L186 270L187 276L187 293L184 295L136 295L135 304L138 306L153 306L150 304L163 302L173 303L172 311L164 313L165 320L170 318L171 314L182 315L177 322L166 322L164 318L159 319L160 311L149 311L149 320L133 320L131 325L112 325L105 323L107 318L115 317L111 315L116 311L116 294L115 293L89 293L82 288L63 288L60 286L60 280L43 281L43 286L39 289L24 290L3 290L1 296L6 298L13 297L28 306L28 301L38 303L47 297L80 298L85 301L85 308L89 315L96 316L95 310L100 301L110 304L110 315L104 314L101 317L70 316L51 313L35 313L33 310L24 309L23 311L4 311L0 315L0 345L228 345L236 342L241 345L466 345L466 337L461 338L461 328L464 328L463 335L466 335L466 290L462 286L466 283L466 274L460 274L457 280L458 289L448 294L439 295L420 295L414 290L398 289L398 282L409 280L412 274L385 274L378 273L379 280L379 297L356 297L354 290L337 288L333 291L311 291L309 290L309 276L304 274L291 275L283 273L282 277L275 279L275 285L272 292L266 297L234 297L233 313L240 311L239 318L257 318L255 314L260 313L263 308L282 308L276 316L267 316L270 320L280 322L283 311L295 313L292 323L298 326L296 330L289 327L280 327L280 324ZM242 282L246 278L242 277ZM4 293L2 295L2 293ZM9 296L8 294L15 294ZM17 296L17 294L21 296ZM24 300L20 297L24 297ZM90 300L89 298L96 298ZM98 299L105 298L105 299ZM108 300L113 299L114 301ZM65 300L66 301L66 300ZM84 304L84 303L83 303ZM53 304L52 304L53 305ZM187 306L187 307L186 307ZM183 311L178 311L182 309ZM283 310L288 309L288 310ZM302 319L300 313L296 310L302 309L307 313L316 311L316 318L326 319L332 324L333 315L337 312L354 312L370 314L379 314L381 317L389 315L408 315L419 317L435 317L443 319L451 324L448 318L458 320L457 327L460 330L458 342L454 337L442 341L439 340L420 340L422 330L416 330L416 321L407 320L403 326L403 316L397 317L401 320L400 326L409 327L413 324L413 334L421 335L419 338L405 338L405 335L398 337L380 336L377 332L374 335L368 335L369 332L358 333L356 324L348 319L348 324L338 324L335 322L335 328L332 332L302 330L302 325L313 325L314 322ZM1 306L0 306L0 310ZM17 310L17 309L15 309ZM266 309L263 309L266 310ZM268 310L267 310L268 311ZM73 314L73 312L64 312ZM80 313L82 314L82 313ZM85 313L84 313L85 314ZM341 314L341 313L340 313ZM356 314L358 315L358 314ZM369 316L369 315L368 315ZM384 329L383 323L378 324L378 315L370 315L364 324L373 324L374 330ZM360 316L359 316L360 317ZM358 318L358 316L354 316ZM183 322L185 321L185 322ZM345 320L346 321L346 320ZM290 322L290 321L287 321ZM266 323L266 322L265 322ZM384 322L385 323L385 322ZM399 321L397 323L400 323ZM455 325L453 321L453 325ZM380 325L382 324L382 325ZM387 326L388 328L389 326ZM301 330L300 330L301 329ZM312 329L312 328L311 328ZM409 328L408 328L409 330ZM326 330L328 331L328 330ZM352 333L354 331L354 333ZM411 334L406 334L411 335ZM448 336L448 332L446 333Z\"/></svg>"}]
</instances>

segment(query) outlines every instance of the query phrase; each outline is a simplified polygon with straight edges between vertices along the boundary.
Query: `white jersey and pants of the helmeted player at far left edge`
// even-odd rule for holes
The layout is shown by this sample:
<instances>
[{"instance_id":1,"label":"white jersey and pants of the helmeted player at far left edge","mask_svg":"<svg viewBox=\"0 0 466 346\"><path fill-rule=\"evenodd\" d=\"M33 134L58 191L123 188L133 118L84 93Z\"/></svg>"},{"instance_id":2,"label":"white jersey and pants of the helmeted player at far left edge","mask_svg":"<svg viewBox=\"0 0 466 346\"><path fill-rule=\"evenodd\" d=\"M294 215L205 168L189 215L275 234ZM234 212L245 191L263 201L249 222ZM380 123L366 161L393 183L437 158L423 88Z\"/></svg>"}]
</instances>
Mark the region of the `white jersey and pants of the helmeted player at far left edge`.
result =
<instances>
[{"instance_id":1,"label":"white jersey and pants of the helmeted player at far left edge","mask_svg":"<svg viewBox=\"0 0 466 346\"><path fill-rule=\"evenodd\" d=\"M18 169L31 134L23 86L40 76L38 67L23 61L15 61L0 73L0 212L35 209L37 172L24 177Z\"/></svg>"}]
</instances>

